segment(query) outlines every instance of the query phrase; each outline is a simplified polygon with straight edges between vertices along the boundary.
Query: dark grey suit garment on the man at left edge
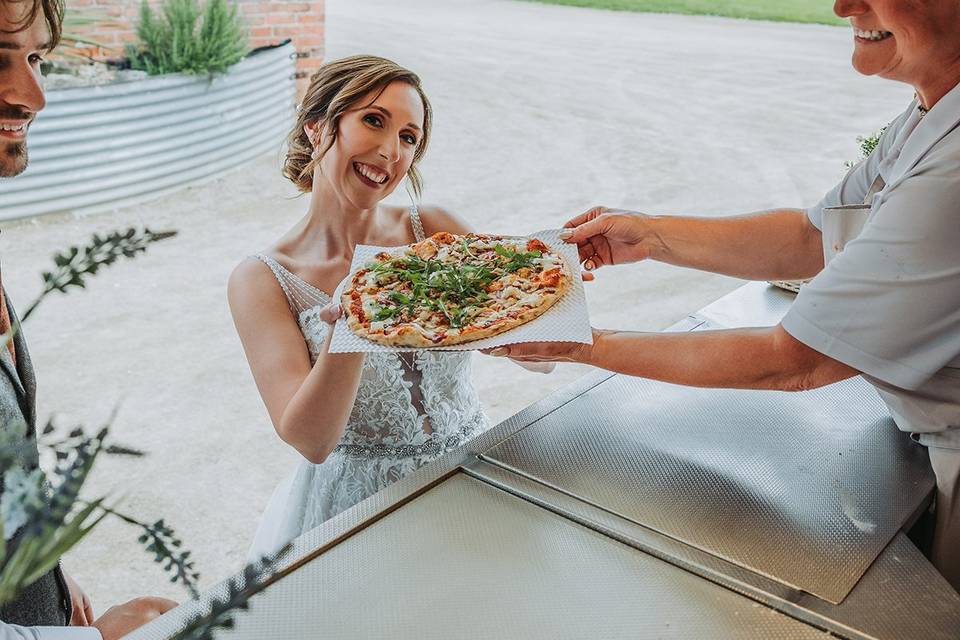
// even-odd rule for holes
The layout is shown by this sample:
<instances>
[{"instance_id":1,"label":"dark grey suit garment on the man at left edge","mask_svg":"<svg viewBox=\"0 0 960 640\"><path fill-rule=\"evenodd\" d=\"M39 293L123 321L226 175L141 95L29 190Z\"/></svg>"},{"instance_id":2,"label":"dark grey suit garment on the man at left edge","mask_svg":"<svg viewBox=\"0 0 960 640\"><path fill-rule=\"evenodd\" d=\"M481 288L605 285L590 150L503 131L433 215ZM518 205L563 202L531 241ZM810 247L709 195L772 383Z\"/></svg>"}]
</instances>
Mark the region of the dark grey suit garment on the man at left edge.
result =
<instances>
[{"instance_id":1,"label":"dark grey suit garment on the man at left edge","mask_svg":"<svg viewBox=\"0 0 960 640\"><path fill-rule=\"evenodd\" d=\"M0 293L6 298L6 292ZM16 312L7 298L11 322L16 322ZM27 437L20 448L19 463L26 469L38 464L36 443L36 378L27 350L23 331L14 337L17 362L14 364L10 350L0 347L0 428L25 423ZM0 475L0 491L3 478ZM16 540L16 536L14 536ZM56 567L27 587L17 600L0 607L0 620L24 626L58 626L70 621L70 598L63 573Z\"/></svg>"}]
</instances>

